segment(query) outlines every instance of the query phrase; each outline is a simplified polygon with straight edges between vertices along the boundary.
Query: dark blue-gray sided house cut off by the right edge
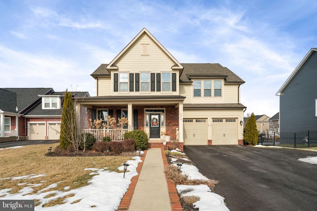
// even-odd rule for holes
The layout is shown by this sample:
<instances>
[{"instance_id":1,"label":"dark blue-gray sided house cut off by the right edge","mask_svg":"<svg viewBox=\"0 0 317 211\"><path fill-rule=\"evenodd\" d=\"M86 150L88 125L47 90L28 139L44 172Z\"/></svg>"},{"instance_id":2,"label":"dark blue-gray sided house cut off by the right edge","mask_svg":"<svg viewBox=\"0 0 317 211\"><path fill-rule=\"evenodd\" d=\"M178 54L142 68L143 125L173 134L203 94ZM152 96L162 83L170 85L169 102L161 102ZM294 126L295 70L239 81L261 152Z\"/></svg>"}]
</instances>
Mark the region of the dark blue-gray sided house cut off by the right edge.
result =
<instances>
[{"instance_id":1,"label":"dark blue-gray sided house cut off by the right edge","mask_svg":"<svg viewBox=\"0 0 317 211\"><path fill-rule=\"evenodd\" d=\"M317 130L317 48L311 48L277 91L280 132Z\"/></svg>"}]
</instances>

